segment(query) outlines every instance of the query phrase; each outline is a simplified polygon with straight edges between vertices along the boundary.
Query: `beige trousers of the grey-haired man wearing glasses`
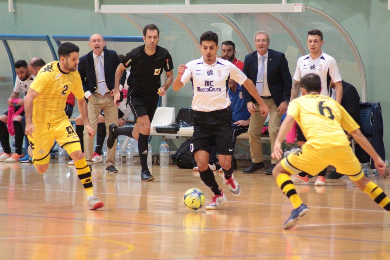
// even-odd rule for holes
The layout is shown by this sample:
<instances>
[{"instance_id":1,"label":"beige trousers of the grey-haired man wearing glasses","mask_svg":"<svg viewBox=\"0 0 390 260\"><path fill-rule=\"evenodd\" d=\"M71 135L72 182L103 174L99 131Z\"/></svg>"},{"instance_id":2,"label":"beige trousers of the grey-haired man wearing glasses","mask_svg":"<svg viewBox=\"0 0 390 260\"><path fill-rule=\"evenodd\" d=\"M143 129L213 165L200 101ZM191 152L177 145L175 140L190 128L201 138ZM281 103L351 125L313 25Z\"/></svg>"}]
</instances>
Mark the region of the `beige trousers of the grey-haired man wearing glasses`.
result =
<instances>
[{"instance_id":1,"label":"beige trousers of the grey-haired man wearing glasses","mask_svg":"<svg viewBox=\"0 0 390 260\"><path fill-rule=\"evenodd\" d=\"M269 138L271 139L271 152L273 151L273 145L275 143L276 137L280 128L280 120L282 119L282 115L279 115L278 107L273 101L272 98L264 99L264 103L269 108L269 122L268 122L268 133ZM252 157L252 162L261 163L263 161L263 148L261 143L261 130L264 126L264 122L266 121L266 117L262 117L259 104L257 102L255 113L250 115L249 121L249 147L250 147L250 156ZM272 164L277 164L278 161L272 159Z\"/></svg>"}]
</instances>

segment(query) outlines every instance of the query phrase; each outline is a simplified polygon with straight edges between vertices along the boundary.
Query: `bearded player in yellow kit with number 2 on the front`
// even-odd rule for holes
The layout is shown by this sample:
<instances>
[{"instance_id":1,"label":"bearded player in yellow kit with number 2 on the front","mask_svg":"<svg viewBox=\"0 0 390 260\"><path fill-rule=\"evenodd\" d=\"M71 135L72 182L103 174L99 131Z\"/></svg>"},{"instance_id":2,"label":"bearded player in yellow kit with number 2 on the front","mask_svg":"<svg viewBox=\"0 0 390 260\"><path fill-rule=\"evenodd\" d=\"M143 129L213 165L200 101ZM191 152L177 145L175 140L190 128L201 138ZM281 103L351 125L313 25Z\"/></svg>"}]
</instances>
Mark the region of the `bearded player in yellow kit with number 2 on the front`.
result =
<instances>
[{"instance_id":1,"label":"bearded player in yellow kit with number 2 on the front","mask_svg":"<svg viewBox=\"0 0 390 260\"><path fill-rule=\"evenodd\" d=\"M94 136L94 130L88 121L80 74L76 71L79 48L73 43L65 42L58 47L58 57L59 61L46 64L39 70L36 81L30 86L25 98L25 134L30 142L32 161L39 173L46 172L50 149L56 140L74 159L78 178L87 193L89 209L99 209L103 207L103 202L94 196L91 171L81 151L80 140L65 115L66 99L72 92L77 98L80 115L89 136Z\"/></svg>"}]
</instances>

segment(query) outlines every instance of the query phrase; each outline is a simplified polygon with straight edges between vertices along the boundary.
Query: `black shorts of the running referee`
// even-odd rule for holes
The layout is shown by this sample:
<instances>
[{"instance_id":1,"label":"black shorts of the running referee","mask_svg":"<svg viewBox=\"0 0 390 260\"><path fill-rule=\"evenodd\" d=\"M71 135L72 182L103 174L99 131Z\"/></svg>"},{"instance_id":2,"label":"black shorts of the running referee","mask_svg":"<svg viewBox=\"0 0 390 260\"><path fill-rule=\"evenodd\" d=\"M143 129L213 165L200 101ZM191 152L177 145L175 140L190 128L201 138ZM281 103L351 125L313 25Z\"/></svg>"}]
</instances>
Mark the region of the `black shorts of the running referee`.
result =
<instances>
[{"instance_id":1,"label":"black shorts of the running referee","mask_svg":"<svg viewBox=\"0 0 390 260\"><path fill-rule=\"evenodd\" d=\"M150 122L152 122L154 113L156 112L158 94L148 95L140 92L136 92L134 89L129 88L127 92L127 102L130 106L131 112L133 112L134 120L142 115L148 115Z\"/></svg>"}]
</instances>

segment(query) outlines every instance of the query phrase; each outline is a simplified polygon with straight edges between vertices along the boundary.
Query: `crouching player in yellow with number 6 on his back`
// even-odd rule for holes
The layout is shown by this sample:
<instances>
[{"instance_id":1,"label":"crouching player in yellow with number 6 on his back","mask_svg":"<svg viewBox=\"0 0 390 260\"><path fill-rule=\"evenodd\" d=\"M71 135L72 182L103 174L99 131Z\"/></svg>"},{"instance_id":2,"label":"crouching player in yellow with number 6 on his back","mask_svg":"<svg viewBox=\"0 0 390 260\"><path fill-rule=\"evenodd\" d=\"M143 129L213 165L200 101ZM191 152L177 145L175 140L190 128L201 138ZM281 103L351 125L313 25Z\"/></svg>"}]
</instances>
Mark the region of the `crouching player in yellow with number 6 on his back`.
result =
<instances>
[{"instance_id":1,"label":"crouching player in yellow with number 6 on his back","mask_svg":"<svg viewBox=\"0 0 390 260\"><path fill-rule=\"evenodd\" d=\"M282 158L281 143L295 120L301 127L307 142L297 152L284 158L272 172L278 186L294 206L290 218L283 227L292 228L301 217L309 212L296 192L290 175L307 172L314 176L330 164L335 166L337 172L347 175L372 200L390 211L390 199L378 185L364 176L362 167L353 154L344 133L345 129L353 136L355 141L374 159L375 168L383 175L386 164L363 136L359 125L337 101L319 95L321 80L317 74L307 74L301 79L301 92L303 96L294 99L289 104L287 117L280 126L271 154L278 160Z\"/></svg>"}]
</instances>

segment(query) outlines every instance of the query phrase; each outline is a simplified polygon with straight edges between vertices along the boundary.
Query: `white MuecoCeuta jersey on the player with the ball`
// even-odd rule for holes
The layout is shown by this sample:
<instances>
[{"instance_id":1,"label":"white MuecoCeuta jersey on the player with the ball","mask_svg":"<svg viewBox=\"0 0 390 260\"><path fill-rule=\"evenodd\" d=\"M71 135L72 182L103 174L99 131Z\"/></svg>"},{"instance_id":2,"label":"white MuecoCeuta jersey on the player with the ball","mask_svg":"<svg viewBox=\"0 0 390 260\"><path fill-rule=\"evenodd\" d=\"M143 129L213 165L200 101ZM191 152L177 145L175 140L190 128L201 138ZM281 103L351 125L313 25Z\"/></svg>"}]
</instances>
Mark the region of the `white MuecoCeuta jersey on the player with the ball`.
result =
<instances>
[{"instance_id":1,"label":"white MuecoCeuta jersey on the player with the ball","mask_svg":"<svg viewBox=\"0 0 390 260\"><path fill-rule=\"evenodd\" d=\"M192 81L192 109L195 111L215 111L230 105L228 95L229 79L242 85L247 77L229 60L216 58L213 64L207 64L203 57L191 60L186 64L187 69L181 77L185 85Z\"/></svg>"}]
</instances>

